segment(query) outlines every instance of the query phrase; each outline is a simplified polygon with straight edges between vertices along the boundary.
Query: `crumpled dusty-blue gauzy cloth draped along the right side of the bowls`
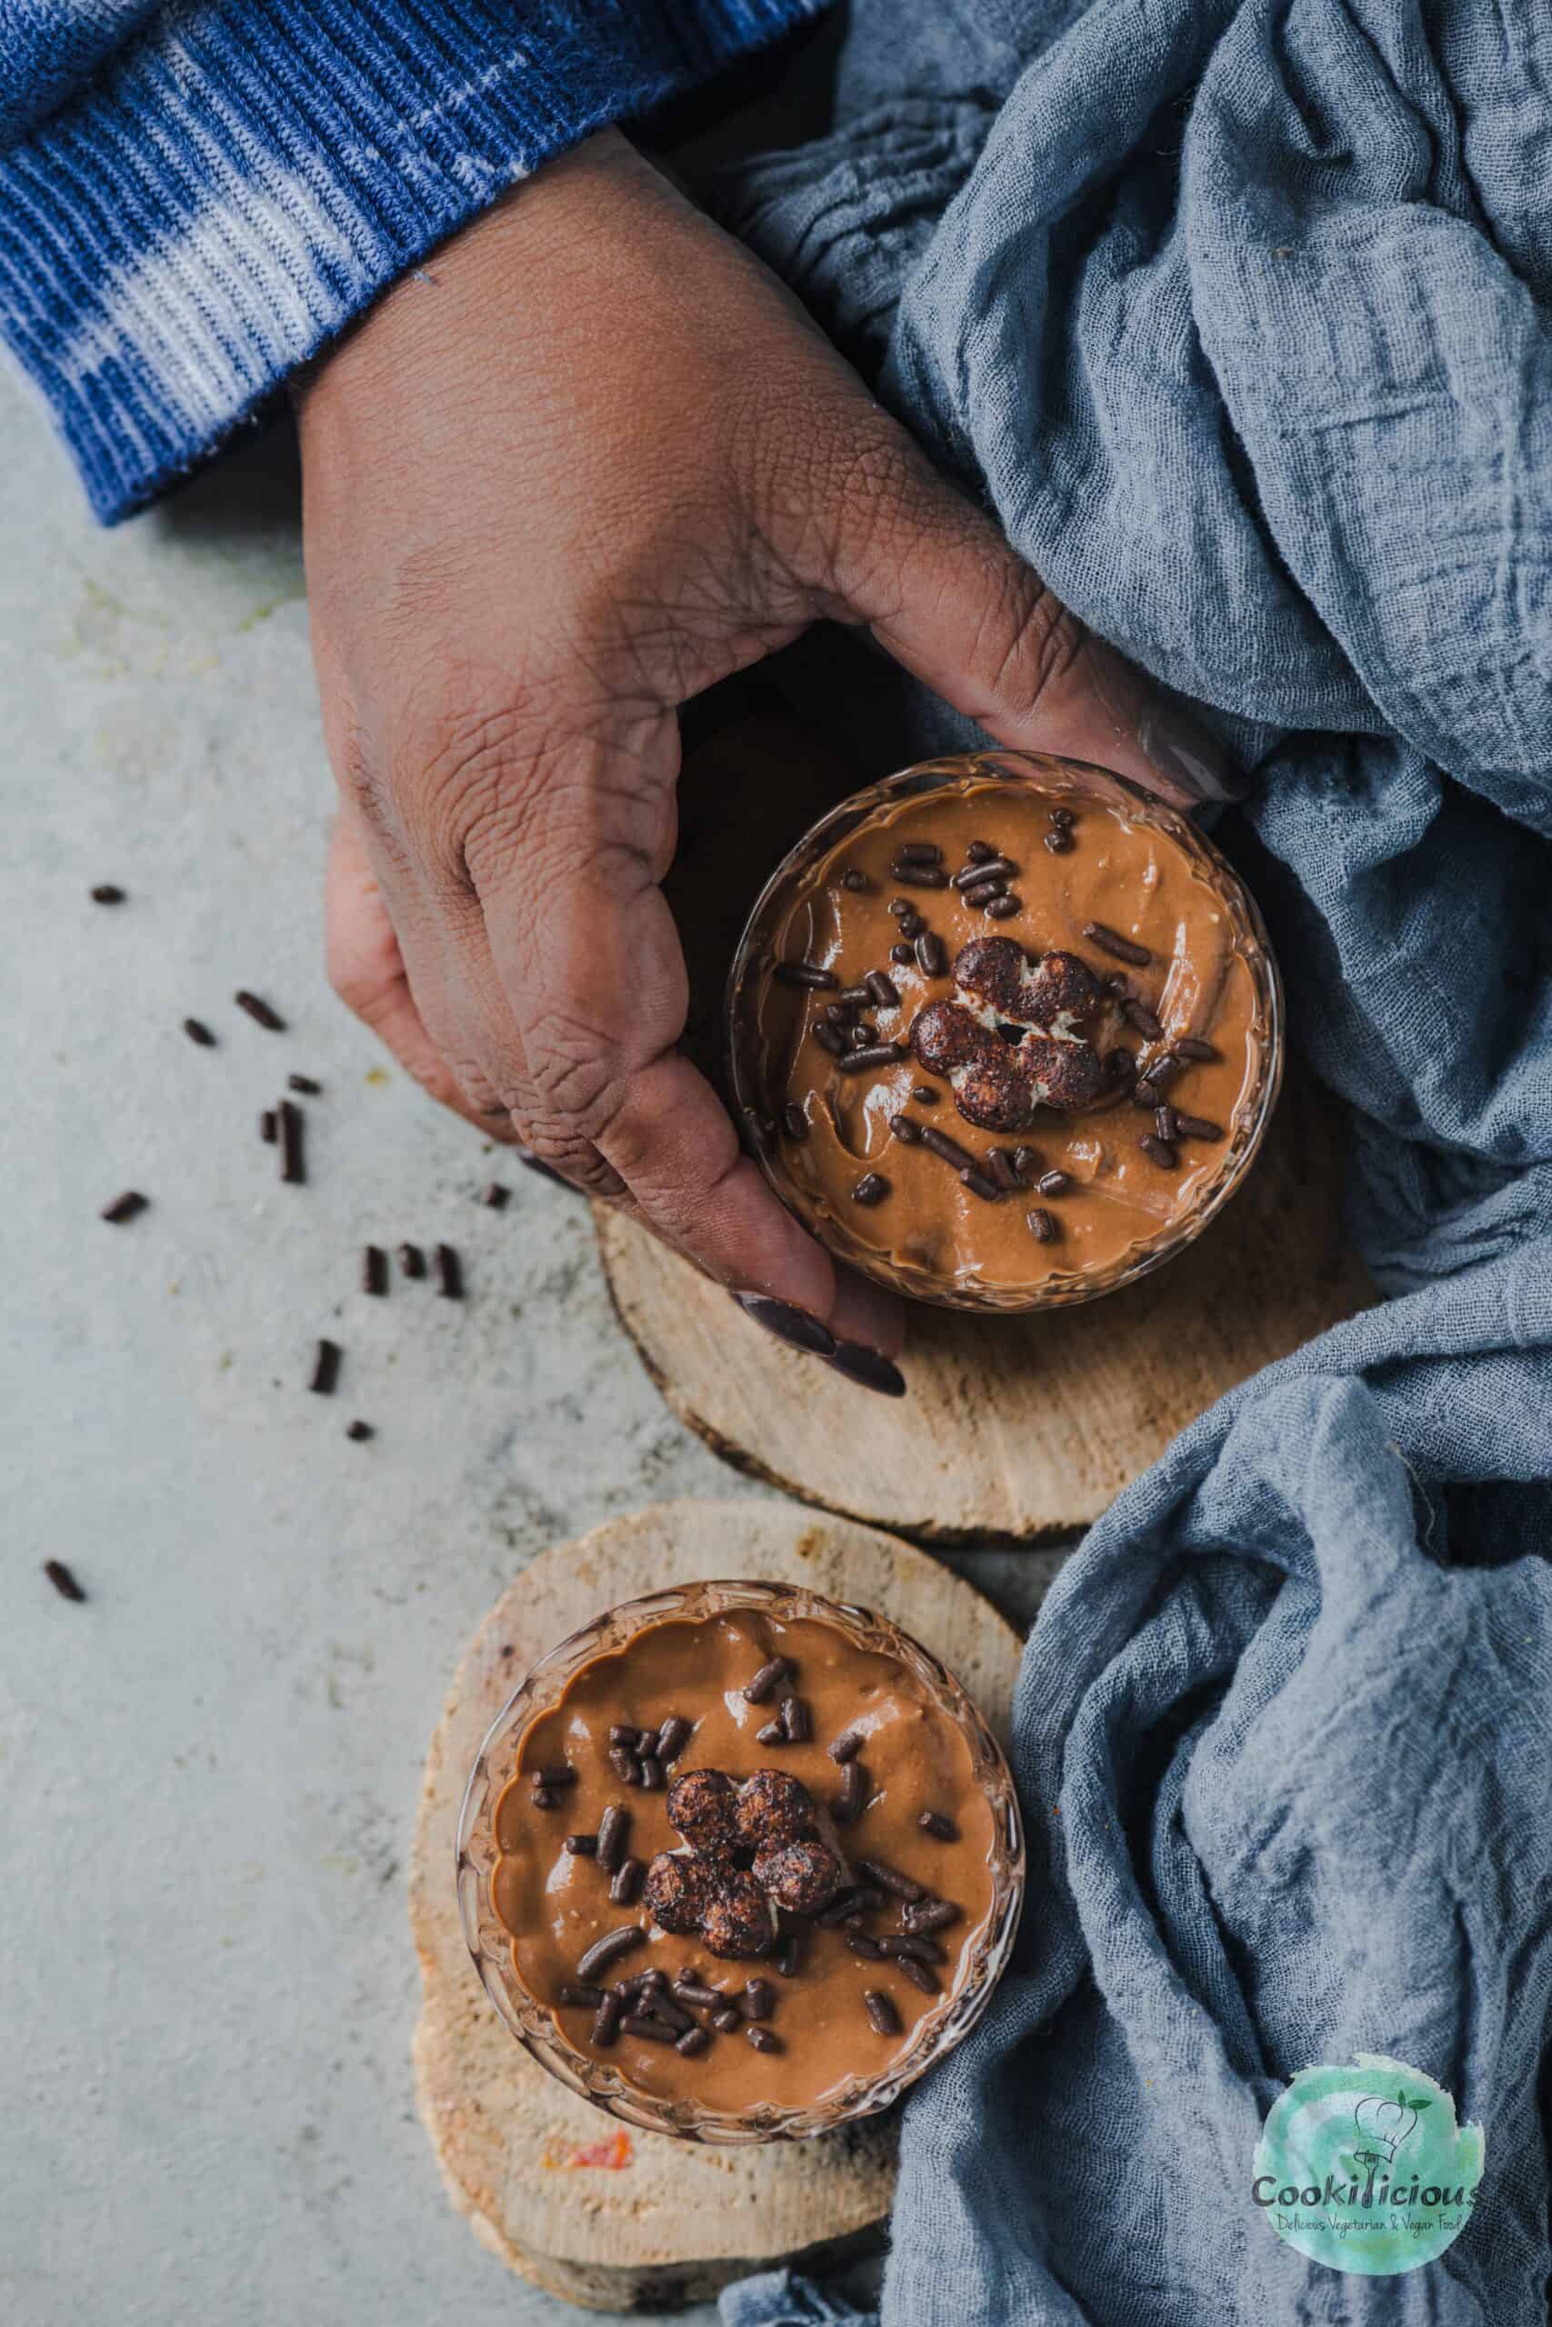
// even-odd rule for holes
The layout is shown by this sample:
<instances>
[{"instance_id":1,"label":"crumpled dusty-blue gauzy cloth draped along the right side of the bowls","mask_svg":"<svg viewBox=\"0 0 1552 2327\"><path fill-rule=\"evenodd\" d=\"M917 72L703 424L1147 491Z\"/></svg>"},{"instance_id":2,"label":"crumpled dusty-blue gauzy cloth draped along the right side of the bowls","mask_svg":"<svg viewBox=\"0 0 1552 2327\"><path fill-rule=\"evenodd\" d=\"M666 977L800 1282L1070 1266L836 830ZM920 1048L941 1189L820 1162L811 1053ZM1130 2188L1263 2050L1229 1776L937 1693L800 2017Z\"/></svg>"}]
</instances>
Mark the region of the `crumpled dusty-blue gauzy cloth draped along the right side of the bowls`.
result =
<instances>
[{"instance_id":1,"label":"crumpled dusty-blue gauzy cloth draped along the right side of the bowls","mask_svg":"<svg viewBox=\"0 0 1552 2327\"><path fill-rule=\"evenodd\" d=\"M835 133L714 188L1096 631L1254 768L1219 838L1389 1296L1247 1382L1028 1645L1015 1973L905 2111L889 2327L1547 2315L1552 14L856 0ZM966 740L828 640L859 740ZM1443 2260L1252 2204L1284 2083L1480 2120ZM752 2280L738 2327L800 2320ZM824 2315L824 2313L817 2313Z\"/></svg>"}]
</instances>

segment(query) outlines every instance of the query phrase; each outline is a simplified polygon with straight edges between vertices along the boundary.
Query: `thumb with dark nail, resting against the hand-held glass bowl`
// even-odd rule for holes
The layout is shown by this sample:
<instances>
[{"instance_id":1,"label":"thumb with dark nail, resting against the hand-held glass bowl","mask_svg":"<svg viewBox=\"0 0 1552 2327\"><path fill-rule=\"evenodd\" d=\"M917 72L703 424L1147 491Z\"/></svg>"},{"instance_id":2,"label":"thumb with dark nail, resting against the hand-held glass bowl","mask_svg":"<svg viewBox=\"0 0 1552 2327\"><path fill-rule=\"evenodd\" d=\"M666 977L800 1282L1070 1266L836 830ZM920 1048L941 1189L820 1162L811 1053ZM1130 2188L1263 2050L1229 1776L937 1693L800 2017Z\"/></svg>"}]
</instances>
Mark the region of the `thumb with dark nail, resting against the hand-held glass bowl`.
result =
<instances>
[{"instance_id":1,"label":"thumb with dark nail, resting against the hand-held glass bowl","mask_svg":"<svg viewBox=\"0 0 1552 2327\"><path fill-rule=\"evenodd\" d=\"M887 477L842 512L833 589L852 619L966 712L1024 752L1098 761L1180 807L1243 791L1182 705L1094 638L894 421Z\"/></svg>"}]
</instances>

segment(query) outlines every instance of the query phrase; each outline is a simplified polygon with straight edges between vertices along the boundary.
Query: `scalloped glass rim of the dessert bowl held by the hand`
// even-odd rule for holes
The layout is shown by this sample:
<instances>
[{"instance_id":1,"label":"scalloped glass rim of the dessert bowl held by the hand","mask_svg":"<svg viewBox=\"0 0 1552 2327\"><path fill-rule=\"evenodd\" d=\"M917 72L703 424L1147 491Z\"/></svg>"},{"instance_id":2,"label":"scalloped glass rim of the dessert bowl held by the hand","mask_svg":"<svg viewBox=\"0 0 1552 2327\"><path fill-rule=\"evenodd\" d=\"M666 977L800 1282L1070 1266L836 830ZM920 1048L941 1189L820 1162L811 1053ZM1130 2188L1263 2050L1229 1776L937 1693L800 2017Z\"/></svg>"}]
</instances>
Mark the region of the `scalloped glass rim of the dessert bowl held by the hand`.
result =
<instances>
[{"instance_id":1,"label":"scalloped glass rim of the dessert bowl held by the hand","mask_svg":"<svg viewBox=\"0 0 1552 2327\"><path fill-rule=\"evenodd\" d=\"M1196 1243L1208 1222L1222 1212L1245 1180L1245 1173L1250 1170L1266 1136L1266 1126L1277 1103L1277 1091L1282 1089L1282 975L1277 970L1277 959L1273 954L1261 910L1229 859L1177 807L1170 807L1166 800L1142 791L1140 784L1117 775L1112 768L1098 768L1082 759L1059 759L1049 752L959 752L945 759L924 759L914 768L900 768L896 775L887 775L877 784L868 784L866 791L854 791L847 800L840 800L824 817L819 817L819 821L807 828L803 840L786 852L761 889L745 924L745 933L738 940L738 952L733 954L733 966L728 970L724 998L728 1082L740 1110L740 1122L761 1112L763 1094L754 1080L756 1040L747 1022L768 949L766 928L784 910L789 891L798 877L807 873L819 856L833 849L838 840L845 840L847 833L856 831L856 826L884 803L907 798L917 791L940 791L970 777L994 777L1008 784L1028 784L1033 777L1038 780L1042 796L1066 794L1087 800L1108 798L1112 805L1124 805L1133 821L1152 824L1159 831L1170 833L1170 838L1180 842L1187 856L1203 868L1215 889L1224 896L1224 903L1231 908L1236 921L1236 940L1240 942L1243 959L1256 987L1261 1061L1259 1075L1238 1110L1229 1140L1224 1143L1217 1175L1208 1182L1184 1219L1177 1219L1168 1229L1161 1229L1159 1236L1149 1236L1147 1240L1133 1245L1131 1252L1122 1254L1110 1268L1052 1271L1052 1275L1042 1278L1038 1285L977 1285L975 1280L949 1282L926 1268L912 1266L910 1261L887 1259L875 1247L866 1245L845 1219L821 1212L807 1198L805 1189L796 1187L796 1182L782 1173L779 1147L775 1154L766 1154L759 1145L754 1145L752 1152L775 1194L782 1198L786 1210L803 1222L810 1236L814 1236L828 1252L838 1254L838 1259L859 1268L866 1278L873 1278L875 1285L887 1285L891 1291L905 1294L910 1301L926 1301L933 1308L994 1310L1003 1315L1040 1308L1075 1308L1080 1301L1098 1301L1103 1294L1119 1291L1124 1285L1135 1285L1138 1278L1149 1275L1154 1268L1175 1259L1177 1252L1184 1252L1187 1245Z\"/></svg>"}]
</instances>

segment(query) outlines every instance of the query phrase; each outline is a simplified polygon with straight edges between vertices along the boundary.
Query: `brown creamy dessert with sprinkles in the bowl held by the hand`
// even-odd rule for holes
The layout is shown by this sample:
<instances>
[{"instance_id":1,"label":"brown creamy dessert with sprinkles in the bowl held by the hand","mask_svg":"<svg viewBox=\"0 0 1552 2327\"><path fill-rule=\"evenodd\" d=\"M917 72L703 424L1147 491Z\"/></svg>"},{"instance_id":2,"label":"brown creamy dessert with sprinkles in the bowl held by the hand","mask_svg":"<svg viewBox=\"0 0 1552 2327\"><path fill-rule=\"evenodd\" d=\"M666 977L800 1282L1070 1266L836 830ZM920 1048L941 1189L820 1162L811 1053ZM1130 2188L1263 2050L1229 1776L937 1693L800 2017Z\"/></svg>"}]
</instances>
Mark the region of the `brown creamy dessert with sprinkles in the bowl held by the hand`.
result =
<instances>
[{"instance_id":1,"label":"brown creamy dessert with sprinkles in the bowl held by the hand","mask_svg":"<svg viewBox=\"0 0 1552 2327\"><path fill-rule=\"evenodd\" d=\"M940 856L905 877L903 849ZM1012 908L968 903L954 887L975 854L994 856L994 884L996 861L1010 861ZM1110 938L1147 959L1122 959ZM975 991L956 982L956 963L980 973ZM898 1001L863 996L870 973ZM1054 1008L1056 973L1077 1012ZM812 984L798 982L807 975ZM998 1008L1008 1001L1012 1012ZM933 1012L945 1003L947 1022ZM924 1040L947 1024L963 1042L970 1019L975 1040L1003 1049L987 1061L991 1124L984 1105L980 1122L961 1105L975 1073L945 1073L952 1047ZM775 931L754 1022L766 1152L796 1208L889 1264L987 1287L1108 1273L1182 1222L1222 1173L1270 1038L1243 917L1210 859L1105 800L987 777L882 807L807 870ZM863 1059L882 1052L861 1070L835 1056L856 1040L852 1024ZM1033 1040L1019 1047L1019 1033ZM1028 1061L1054 1061L1054 1082L1026 1075L1019 1105ZM966 1154L933 1152L928 1129ZM968 1184L966 1164L996 1191Z\"/></svg>"}]
</instances>

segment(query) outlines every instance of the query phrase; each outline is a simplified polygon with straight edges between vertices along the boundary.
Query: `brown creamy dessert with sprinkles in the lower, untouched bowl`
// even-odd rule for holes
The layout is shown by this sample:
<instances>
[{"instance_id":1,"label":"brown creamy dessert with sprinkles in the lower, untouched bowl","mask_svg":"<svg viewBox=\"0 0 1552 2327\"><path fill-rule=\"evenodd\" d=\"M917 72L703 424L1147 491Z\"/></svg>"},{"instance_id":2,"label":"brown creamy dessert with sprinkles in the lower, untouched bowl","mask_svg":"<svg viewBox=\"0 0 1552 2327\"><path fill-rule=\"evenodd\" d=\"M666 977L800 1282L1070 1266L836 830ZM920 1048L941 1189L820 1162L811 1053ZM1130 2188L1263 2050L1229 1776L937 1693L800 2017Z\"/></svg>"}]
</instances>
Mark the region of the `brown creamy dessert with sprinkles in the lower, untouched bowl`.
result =
<instances>
[{"instance_id":1,"label":"brown creamy dessert with sprinkles in the lower, untouched bowl","mask_svg":"<svg viewBox=\"0 0 1552 2327\"><path fill-rule=\"evenodd\" d=\"M749 1701L773 1659L789 1671ZM784 1713L784 1699L796 1710ZM679 1743L670 1731L677 1752L645 1787L640 1759L610 1731L668 1722L689 1734ZM770 1724L796 1741L761 1743ZM838 1762L828 1748L847 1736L856 1750ZM556 1782L540 1785L544 1773ZM856 1815L847 1799L861 1803ZM605 1829L607 1813L617 1817ZM617 1836L619 1813L628 1824L610 1871L598 1836ZM803 2108L882 2076L963 1987L994 1903L994 1810L963 1731L903 1664L807 1617L670 1620L593 1659L524 1731L493 1827L491 1903L528 1994L579 2052L640 2092L714 2111ZM584 1850L572 1855L568 1836ZM626 1901L610 1897L621 1864L635 1866ZM779 1894L807 1910L779 1906ZM665 1929L654 1899L696 1927ZM912 1929L921 1920L926 1929ZM626 1929L635 1936L614 1962L579 1971L589 1948ZM905 1945L910 1957L880 1952ZM668 2018L700 2031L686 2050L631 2029L628 2018L652 2011L640 1997L596 2001L652 1973ZM565 2001L577 1987L589 1994Z\"/></svg>"}]
</instances>

